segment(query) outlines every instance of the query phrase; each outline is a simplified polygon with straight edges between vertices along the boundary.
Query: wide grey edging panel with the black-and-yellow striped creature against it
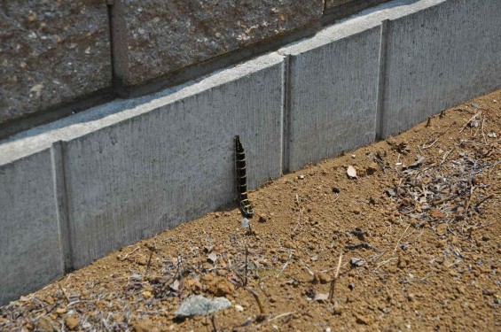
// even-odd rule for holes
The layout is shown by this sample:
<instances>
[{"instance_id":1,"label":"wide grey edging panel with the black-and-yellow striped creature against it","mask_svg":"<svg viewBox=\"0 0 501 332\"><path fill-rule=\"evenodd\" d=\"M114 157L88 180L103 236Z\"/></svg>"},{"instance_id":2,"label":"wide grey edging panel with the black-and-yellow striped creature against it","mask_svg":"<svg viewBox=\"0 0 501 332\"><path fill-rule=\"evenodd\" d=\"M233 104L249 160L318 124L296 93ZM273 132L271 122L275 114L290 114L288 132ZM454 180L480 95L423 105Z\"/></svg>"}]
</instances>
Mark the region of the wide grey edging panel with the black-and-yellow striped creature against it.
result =
<instances>
[{"instance_id":1,"label":"wide grey edging panel with the black-and-yellow striped creature against it","mask_svg":"<svg viewBox=\"0 0 501 332\"><path fill-rule=\"evenodd\" d=\"M247 152L249 187L277 178L283 71L277 54L257 58L69 139L64 158L74 267L231 202L235 135Z\"/></svg>"}]
</instances>

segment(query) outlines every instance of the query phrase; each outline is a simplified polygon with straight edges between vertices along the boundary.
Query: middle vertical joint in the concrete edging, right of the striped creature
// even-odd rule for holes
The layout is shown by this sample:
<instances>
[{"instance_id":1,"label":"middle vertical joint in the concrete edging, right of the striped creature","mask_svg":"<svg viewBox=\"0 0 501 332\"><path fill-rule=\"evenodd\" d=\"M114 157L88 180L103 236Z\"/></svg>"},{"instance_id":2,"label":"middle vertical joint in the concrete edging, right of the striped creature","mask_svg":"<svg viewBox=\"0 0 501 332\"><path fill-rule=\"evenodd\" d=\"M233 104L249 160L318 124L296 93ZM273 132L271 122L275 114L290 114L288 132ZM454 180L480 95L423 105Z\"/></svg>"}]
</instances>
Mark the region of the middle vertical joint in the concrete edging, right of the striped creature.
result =
<instances>
[{"instance_id":1,"label":"middle vertical joint in the concrete edging, right of the striped creature","mask_svg":"<svg viewBox=\"0 0 501 332\"><path fill-rule=\"evenodd\" d=\"M282 103L282 174L286 174L290 169L290 140L291 140L291 56L284 57L284 87Z\"/></svg>"}]
</instances>

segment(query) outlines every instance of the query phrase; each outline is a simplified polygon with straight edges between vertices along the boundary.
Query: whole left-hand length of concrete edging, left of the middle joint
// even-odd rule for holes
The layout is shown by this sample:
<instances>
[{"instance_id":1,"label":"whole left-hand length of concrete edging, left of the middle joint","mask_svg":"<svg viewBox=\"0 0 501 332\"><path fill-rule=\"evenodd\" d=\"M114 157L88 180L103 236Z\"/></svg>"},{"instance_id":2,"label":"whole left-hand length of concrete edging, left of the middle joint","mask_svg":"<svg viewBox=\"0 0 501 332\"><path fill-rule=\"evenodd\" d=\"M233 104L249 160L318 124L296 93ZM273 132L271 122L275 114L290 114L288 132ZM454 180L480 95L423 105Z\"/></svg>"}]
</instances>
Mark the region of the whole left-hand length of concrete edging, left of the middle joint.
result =
<instances>
[{"instance_id":1,"label":"whole left-hand length of concrete edging, left of the middle joint","mask_svg":"<svg viewBox=\"0 0 501 332\"><path fill-rule=\"evenodd\" d=\"M0 269L0 304L231 202L234 135L249 188L277 178L283 78L283 57L271 54L2 141L0 265L12 269Z\"/></svg>"}]
</instances>

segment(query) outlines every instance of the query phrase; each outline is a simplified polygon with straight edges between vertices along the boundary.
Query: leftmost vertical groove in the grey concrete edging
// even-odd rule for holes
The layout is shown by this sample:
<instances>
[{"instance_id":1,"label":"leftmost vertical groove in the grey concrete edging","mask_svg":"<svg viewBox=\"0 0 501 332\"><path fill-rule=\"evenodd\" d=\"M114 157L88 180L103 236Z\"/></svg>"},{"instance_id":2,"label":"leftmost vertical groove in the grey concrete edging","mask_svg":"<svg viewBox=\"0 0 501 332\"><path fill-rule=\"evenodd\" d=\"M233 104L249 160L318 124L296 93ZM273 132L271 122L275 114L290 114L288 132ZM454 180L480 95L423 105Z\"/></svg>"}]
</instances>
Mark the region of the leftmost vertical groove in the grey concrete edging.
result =
<instances>
[{"instance_id":1,"label":"leftmost vertical groove in the grey concrete edging","mask_svg":"<svg viewBox=\"0 0 501 332\"><path fill-rule=\"evenodd\" d=\"M71 272L73 268L73 247L69 227L67 179L65 172L66 143L54 142L51 145L52 181L56 197L58 213L59 249L61 251L61 269L63 274Z\"/></svg>"}]
</instances>

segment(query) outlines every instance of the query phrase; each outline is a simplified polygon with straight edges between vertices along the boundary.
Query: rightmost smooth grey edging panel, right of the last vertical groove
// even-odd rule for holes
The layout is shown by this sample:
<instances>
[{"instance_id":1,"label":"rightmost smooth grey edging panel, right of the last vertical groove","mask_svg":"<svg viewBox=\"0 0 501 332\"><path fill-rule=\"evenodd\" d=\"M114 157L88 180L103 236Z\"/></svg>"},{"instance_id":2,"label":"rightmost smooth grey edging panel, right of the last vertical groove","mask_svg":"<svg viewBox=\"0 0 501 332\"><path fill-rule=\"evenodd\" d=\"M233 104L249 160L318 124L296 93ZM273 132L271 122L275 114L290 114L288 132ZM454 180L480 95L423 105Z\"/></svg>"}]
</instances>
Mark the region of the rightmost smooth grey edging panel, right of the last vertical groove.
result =
<instances>
[{"instance_id":1,"label":"rightmost smooth grey edging panel, right of the last vertical groove","mask_svg":"<svg viewBox=\"0 0 501 332\"><path fill-rule=\"evenodd\" d=\"M387 25L381 137L501 88L501 3L420 3Z\"/></svg>"}]
</instances>

